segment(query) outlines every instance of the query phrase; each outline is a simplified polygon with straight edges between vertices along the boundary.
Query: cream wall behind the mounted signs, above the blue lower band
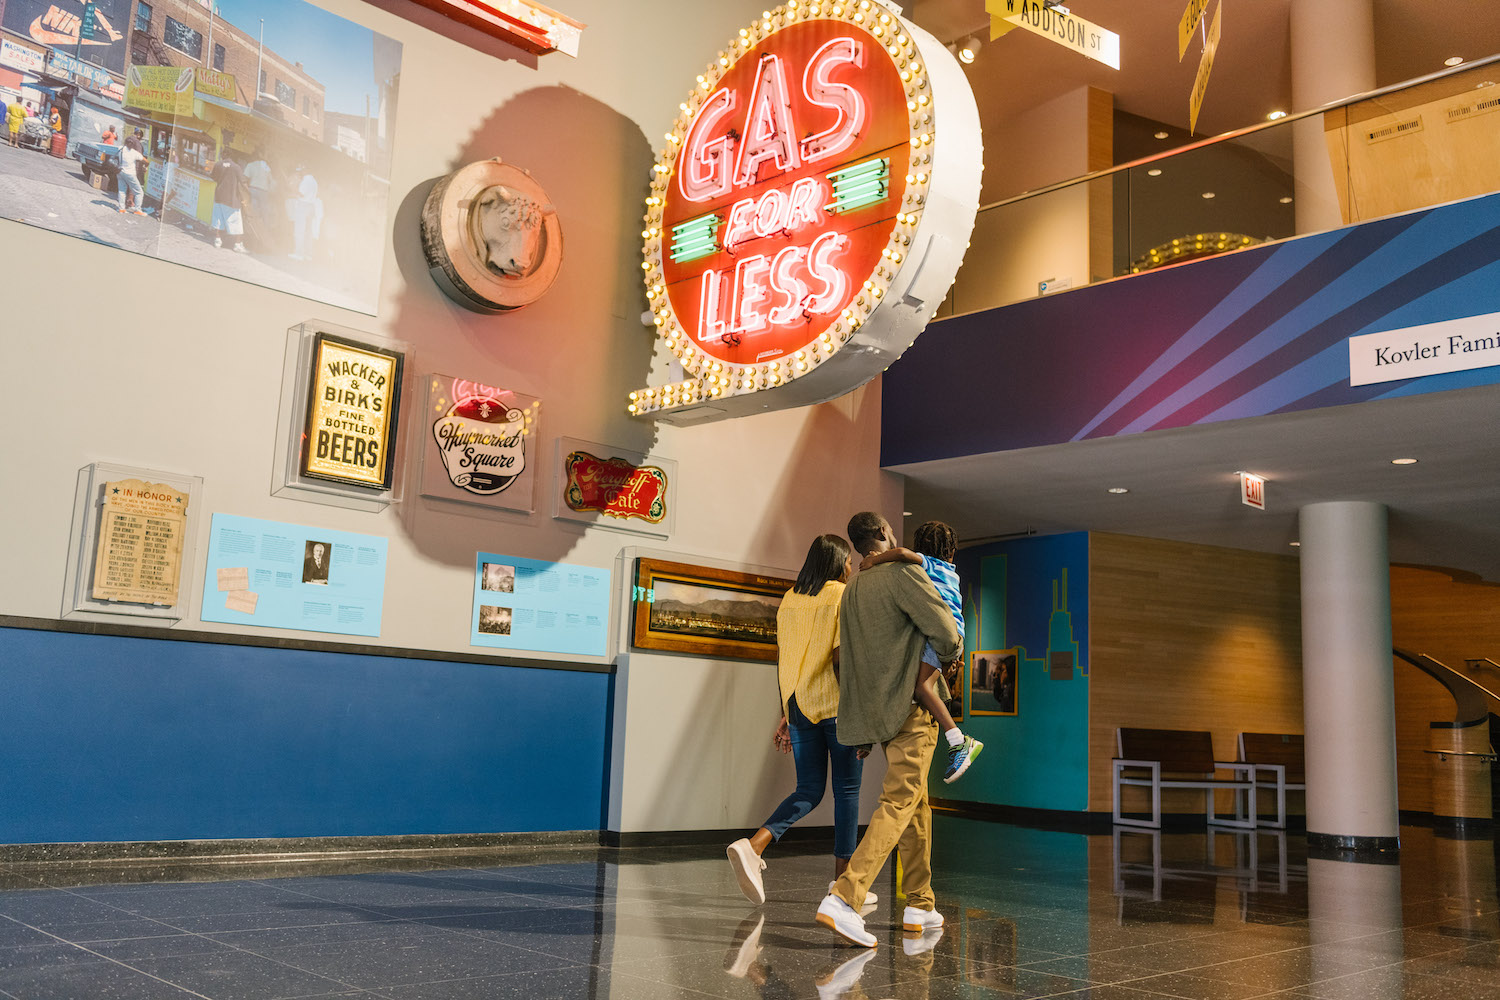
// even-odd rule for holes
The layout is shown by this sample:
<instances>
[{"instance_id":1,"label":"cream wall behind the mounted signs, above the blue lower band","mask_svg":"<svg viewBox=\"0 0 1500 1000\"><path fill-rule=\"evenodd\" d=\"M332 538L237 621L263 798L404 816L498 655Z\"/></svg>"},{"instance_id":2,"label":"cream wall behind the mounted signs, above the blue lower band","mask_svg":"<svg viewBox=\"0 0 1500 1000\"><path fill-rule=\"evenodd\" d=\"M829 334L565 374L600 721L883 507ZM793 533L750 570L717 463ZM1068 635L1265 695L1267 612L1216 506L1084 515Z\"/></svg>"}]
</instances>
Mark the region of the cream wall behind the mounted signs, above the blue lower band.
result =
<instances>
[{"instance_id":1,"label":"cream wall behind the mounted signs, above the blue lower band","mask_svg":"<svg viewBox=\"0 0 1500 1000\"><path fill-rule=\"evenodd\" d=\"M398 3L388 0L392 9ZM10 376L0 393L8 486L0 523L9 525L0 543L8 568L0 615L60 613L75 472L99 460L201 475L204 514L387 537L382 634L368 640L386 646L474 652L477 549L612 567L621 547L642 541L554 520L550 475L538 481L531 516L424 501L411 486L406 502L384 513L273 498L285 331L309 318L411 342L412 375L470 375L542 397L543 462L552 462L560 435L675 459L675 534L654 544L684 556L795 570L812 537L842 532L855 510L878 507L898 523L898 484L878 468L878 387L822 406L688 429L658 430L624 412L627 393L658 364L639 321L645 300L638 279L652 147L694 75L764 4L568 0L567 13L590 25L578 60L534 60L484 43L504 52L495 57L446 36L472 37L464 28L440 34L423 27L441 21L404 3L399 9L416 22L358 0L322 6L404 45L380 315L0 220L0 267L10 289L0 319ZM480 316L447 300L428 276L417 234L434 180L490 156L531 169L558 208L567 247L550 292L506 316ZM204 532L192 553L189 592L202 586L206 541ZM195 600L177 628L266 634L206 625L196 612ZM762 703L776 699L772 675L638 657L630 678L650 699L642 711L686 727L674 730L681 738L674 741L638 744L636 724L616 733L648 789L640 802L622 804L632 816L650 813L656 829L740 823L789 790L784 775L766 777L780 765L762 732ZM724 726L702 727L698 706L705 699L722 706ZM652 783L681 775L684 756L706 763L690 771L681 795L663 799ZM738 763L726 771L722 762ZM732 781L740 769L754 778ZM726 798L717 813L699 808L718 795Z\"/></svg>"}]
</instances>

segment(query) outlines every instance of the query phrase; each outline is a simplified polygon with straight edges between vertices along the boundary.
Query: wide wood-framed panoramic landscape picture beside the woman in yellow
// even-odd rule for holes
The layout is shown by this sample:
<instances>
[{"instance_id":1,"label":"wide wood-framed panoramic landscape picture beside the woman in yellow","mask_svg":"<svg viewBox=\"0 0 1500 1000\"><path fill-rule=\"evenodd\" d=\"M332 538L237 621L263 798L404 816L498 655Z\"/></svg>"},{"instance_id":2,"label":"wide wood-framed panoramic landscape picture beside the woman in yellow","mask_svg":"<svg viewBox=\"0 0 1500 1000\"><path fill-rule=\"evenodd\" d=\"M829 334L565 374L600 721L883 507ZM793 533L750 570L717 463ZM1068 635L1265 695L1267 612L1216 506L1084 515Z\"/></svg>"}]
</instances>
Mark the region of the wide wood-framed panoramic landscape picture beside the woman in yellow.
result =
<instances>
[{"instance_id":1,"label":"wide wood-framed panoramic landscape picture beside the woman in yellow","mask_svg":"<svg viewBox=\"0 0 1500 1000\"><path fill-rule=\"evenodd\" d=\"M776 661L776 613L794 580L735 570L636 561L636 649Z\"/></svg>"}]
</instances>

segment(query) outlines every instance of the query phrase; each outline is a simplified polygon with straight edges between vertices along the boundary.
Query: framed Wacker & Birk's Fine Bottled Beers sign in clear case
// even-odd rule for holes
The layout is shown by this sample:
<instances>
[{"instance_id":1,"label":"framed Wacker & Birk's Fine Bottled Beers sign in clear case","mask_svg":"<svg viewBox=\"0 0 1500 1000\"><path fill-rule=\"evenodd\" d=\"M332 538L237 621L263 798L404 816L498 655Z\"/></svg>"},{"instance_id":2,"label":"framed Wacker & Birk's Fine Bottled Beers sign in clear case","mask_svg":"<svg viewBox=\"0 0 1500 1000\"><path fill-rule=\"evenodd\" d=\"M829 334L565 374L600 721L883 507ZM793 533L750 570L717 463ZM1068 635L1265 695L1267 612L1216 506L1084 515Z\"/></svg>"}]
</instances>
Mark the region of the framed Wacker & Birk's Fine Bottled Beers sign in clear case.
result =
<instances>
[{"instance_id":1,"label":"framed Wacker & Birk's Fine Bottled Beers sign in clear case","mask_svg":"<svg viewBox=\"0 0 1500 1000\"><path fill-rule=\"evenodd\" d=\"M400 499L410 363L399 340L321 321L288 330L272 493L356 510Z\"/></svg>"}]
</instances>

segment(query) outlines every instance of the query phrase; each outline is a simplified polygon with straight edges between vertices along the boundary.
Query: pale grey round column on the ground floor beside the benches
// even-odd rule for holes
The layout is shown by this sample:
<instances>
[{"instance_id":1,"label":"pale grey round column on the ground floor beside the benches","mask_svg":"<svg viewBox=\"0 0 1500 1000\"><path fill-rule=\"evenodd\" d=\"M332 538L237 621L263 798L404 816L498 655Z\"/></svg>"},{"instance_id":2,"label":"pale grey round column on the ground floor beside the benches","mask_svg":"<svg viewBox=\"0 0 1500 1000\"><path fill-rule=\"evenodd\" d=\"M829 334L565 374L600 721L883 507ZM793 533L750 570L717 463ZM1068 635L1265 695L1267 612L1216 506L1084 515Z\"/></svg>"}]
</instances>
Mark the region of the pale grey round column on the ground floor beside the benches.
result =
<instances>
[{"instance_id":1,"label":"pale grey round column on the ground floor beside the benches","mask_svg":"<svg viewBox=\"0 0 1500 1000\"><path fill-rule=\"evenodd\" d=\"M1338 501L1298 516L1308 847L1400 849L1386 508Z\"/></svg>"}]
</instances>

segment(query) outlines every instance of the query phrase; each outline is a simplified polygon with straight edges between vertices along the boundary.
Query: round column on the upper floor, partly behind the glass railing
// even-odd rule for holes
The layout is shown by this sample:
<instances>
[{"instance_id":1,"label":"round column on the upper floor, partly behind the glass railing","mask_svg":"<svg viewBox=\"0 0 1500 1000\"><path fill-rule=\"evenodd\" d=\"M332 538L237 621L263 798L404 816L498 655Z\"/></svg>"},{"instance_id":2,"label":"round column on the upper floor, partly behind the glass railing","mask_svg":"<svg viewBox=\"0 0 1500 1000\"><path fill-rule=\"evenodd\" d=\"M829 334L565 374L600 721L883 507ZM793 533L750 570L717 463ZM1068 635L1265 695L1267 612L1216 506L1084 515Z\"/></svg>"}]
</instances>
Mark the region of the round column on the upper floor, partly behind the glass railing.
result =
<instances>
[{"instance_id":1,"label":"round column on the upper floor, partly behind the glass railing","mask_svg":"<svg viewBox=\"0 0 1500 1000\"><path fill-rule=\"evenodd\" d=\"M1376 15L1372 0L1298 0L1292 7L1292 109L1376 88ZM1323 138L1323 117L1292 124L1293 202L1298 232L1344 225Z\"/></svg>"}]
</instances>

